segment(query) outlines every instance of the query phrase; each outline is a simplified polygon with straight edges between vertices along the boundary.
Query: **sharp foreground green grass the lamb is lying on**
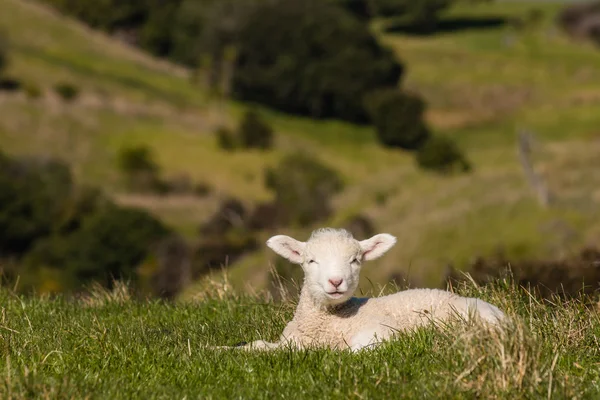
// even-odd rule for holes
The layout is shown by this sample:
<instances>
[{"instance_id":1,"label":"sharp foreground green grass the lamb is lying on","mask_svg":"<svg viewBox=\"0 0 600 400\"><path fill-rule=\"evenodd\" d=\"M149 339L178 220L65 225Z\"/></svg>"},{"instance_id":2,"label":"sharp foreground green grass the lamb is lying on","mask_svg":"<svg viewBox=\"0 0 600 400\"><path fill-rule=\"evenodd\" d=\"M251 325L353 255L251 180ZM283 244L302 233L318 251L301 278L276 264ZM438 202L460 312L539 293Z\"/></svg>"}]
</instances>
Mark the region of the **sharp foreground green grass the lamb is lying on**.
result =
<instances>
[{"instance_id":1,"label":"sharp foreground green grass the lamb is lying on","mask_svg":"<svg viewBox=\"0 0 600 400\"><path fill-rule=\"evenodd\" d=\"M0 291L4 399L498 398L600 396L600 314L583 299L541 302L507 281L461 286L515 323L425 327L359 354L253 354L206 345L276 340L293 301L235 295L194 302L136 300L119 285L84 299ZM226 290L229 289L229 290Z\"/></svg>"}]
</instances>

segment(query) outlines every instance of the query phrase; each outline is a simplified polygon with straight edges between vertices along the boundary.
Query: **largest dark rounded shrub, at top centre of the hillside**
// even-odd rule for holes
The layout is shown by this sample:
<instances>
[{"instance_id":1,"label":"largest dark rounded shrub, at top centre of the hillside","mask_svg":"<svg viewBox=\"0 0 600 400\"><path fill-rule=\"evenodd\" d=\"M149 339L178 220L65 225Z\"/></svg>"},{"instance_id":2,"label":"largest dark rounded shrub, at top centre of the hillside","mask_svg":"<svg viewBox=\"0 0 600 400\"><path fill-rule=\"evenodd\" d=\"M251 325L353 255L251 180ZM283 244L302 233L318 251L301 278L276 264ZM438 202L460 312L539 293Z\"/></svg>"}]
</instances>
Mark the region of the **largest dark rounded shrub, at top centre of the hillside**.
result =
<instances>
[{"instance_id":1,"label":"largest dark rounded shrub, at top centre of the hillside","mask_svg":"<svg viewBox=\"0 0 600 400\"><path fill-rule=\"evenodd\" d=\"M313 118L365 122L363 96L401 65L366 24L331 2L263 2L239 32L233 96Z\"/></svg>"}]
</instances>

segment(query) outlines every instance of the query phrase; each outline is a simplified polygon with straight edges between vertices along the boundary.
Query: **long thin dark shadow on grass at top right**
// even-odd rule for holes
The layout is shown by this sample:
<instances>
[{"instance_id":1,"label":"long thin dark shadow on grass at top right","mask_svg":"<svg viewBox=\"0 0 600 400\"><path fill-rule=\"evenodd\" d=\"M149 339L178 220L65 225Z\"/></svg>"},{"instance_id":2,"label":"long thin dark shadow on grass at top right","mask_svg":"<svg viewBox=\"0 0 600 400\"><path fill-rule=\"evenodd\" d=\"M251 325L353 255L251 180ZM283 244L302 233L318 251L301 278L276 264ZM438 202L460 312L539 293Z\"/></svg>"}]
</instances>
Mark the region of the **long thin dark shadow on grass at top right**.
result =
<instances>
[{"instance_id":1,"label":"long thin dark shadow on grass at top right","mask_svg":"<svg viewBox=\"0 0 600 400\"><path fill-rule=\"evenodd\" d=\"M433 25L407 23L405 21L390 24L387 33L402 33L415 36L430 36L440 33L454 33L467 30L494 29L508 24L504 17L455 17L445 18Z\"/></svg>"}]
</instances>

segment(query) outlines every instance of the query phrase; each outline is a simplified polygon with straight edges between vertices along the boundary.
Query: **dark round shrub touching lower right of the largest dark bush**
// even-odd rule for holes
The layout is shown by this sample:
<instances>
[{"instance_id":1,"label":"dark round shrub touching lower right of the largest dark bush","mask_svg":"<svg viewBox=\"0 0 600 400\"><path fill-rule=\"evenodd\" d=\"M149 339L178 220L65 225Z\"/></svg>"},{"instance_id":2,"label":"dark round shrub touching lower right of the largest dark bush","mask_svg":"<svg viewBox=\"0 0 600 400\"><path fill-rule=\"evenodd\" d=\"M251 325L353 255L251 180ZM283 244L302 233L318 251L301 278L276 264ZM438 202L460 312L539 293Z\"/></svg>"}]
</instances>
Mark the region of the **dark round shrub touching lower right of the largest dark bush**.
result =
<instances>
[{"instance_id":1,"label":"dark round shrub touching lower right of the largest dark bush","mask_svg":"<svg viewBox=\"0 0 600 400\"><path fill-rule=\"evenodd\" d=\"M418 149L429 137L421 98L396 89L378 90L365 98L379 141L389 147Z\"/></svg>"}]
</instances>

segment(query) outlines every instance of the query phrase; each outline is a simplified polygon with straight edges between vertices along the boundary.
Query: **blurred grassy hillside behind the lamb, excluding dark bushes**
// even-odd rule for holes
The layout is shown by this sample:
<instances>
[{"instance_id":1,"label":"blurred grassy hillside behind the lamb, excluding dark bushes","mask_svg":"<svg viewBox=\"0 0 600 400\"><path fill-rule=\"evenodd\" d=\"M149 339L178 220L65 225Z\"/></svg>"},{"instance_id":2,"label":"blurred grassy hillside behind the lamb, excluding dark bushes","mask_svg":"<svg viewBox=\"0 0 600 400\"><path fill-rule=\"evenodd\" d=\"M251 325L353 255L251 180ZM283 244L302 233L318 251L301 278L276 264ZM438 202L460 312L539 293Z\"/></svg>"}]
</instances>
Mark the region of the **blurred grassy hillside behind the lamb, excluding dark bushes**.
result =
<instances>
[{"instance_id":1,"label":"blurred grassy hillside behind the lamb, excluding dark bushes","mask_svg":"<svg viewBox=\"0 0 600 400\"><path fill-rule=\"evenodd\" d=\"M538 25L505 23L532 7L543 12ZM403 33L394 21L375 27L406 62L404 84L425 96L435 130L456 138L473 161L471 175L446 178L381 148L370 128L266 110L277 131L276 150L224 153L213 129L233 124L242 105L215 103L190 84L189 71L34 2L0 0L0 8L0 28L12 45L9 73L45 94L35 100L0 94L0 147L59 156L78 180L151 210L190 240L221 198L249 205L269 198L264 168L297 149L317 155L347 181L329 225L360 212L377 231L398 237L390 254L364 271L372 282L402 272L413 284L438 285L449 262L464 267L498 250L513 258L560 257L600 240L600 52L557 31L556 5L457 8L446 30L432 36ZM61 81L80 88L77 102L56 98L52 86ZM519 129L535 133L535 166L555 196L548 209L538 205L519 164ZM135 143L152 146L166 174L185 173L215 190L205 199L126 194L115 155ZM303 238L309 231L287 233ZM231 282L260 287L269 260L261 251L230 266Z\"/></svg>"}]
</instances>

